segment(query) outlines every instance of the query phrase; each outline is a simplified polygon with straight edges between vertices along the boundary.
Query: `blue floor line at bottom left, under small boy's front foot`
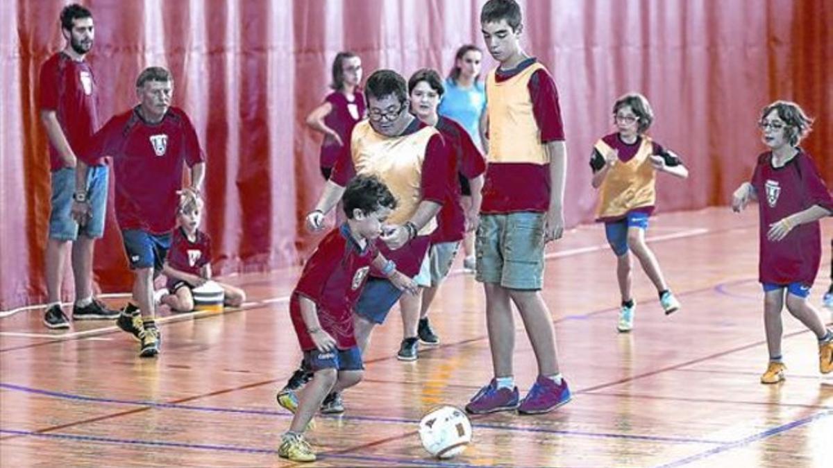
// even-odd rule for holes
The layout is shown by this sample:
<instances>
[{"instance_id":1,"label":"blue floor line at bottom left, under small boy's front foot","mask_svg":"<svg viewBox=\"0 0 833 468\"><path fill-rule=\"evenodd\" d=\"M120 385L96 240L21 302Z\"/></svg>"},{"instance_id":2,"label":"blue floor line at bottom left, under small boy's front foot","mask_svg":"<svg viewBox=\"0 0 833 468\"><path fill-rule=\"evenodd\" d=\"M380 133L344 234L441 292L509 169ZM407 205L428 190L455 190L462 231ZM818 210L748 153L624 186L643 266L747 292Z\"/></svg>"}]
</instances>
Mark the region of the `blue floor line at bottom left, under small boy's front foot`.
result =
<instances>
[{"instance_id":1,"label":"blue floor line at bottom left, under small boy's front foot","mask_svg":"<svg viewBox=\"0 0 833 468\"><path fill-rule=\"evenodd\" d=\"M79 436L75 434L42 434L33 431L15 431L9 429L0 429L0 434L10 434L14 436L32 436L32 437L43 437L48 439L69 439L72 441L85 441L85 442L100 442L104 444L121 444L121 445L131 445L131 446L157 446L157 447L168 447L168 448L177 448L177 449L192 449L192 450L202 450L202 451L228 451L234 453L252 453L252 454L265 454L265 455L276 455L277 450L274 449L264 449L259 447L247 447L247 446L222 446L222 445L215 445L215 444L187 444L184 442L167 442L167 441L142 441L138 439L117 439L115 437L99 437L99 436ZM386 456L357 456L357 455L345 455L345 454L337 454L337 453L319 453L318 458L326 460L328 458L337 459L337 460L352 460L352 461L377 461L379 463L388 463L388 464L404 464L404 465L416 465L416 466L451 466L451 467L460 467L460 468L467 468L467 467L476 467L476 466L483 466L483 465L468 465L466 463L455 463L455 462L441 462L441 461L426 461L426 460L414 460L414 459L407 459L407 458L391 458ZM288 461L287 461L288 462Z\"/></svg>"}]
</instances>

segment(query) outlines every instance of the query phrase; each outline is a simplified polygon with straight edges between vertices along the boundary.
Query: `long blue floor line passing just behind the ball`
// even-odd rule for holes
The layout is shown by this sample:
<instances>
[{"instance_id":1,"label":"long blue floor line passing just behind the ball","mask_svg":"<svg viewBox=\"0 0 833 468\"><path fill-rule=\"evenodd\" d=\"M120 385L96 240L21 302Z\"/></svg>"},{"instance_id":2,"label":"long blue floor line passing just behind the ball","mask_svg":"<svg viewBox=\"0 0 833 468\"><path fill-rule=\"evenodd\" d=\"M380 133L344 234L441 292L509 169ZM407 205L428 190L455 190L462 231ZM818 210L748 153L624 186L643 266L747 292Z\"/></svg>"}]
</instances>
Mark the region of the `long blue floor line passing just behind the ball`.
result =
<instances>
[{"instance_id":1,"label":"long blue floor line passing just behind the ball","mask_svg":"<svg viewBox=\"0 0 833 468\"><path fill-rule=\"evenodd\" d=\"M156 401L142 401L142 400L117 400L112 398L99 398L95 396L82 396L82 395L73 395L71 393L62 393L59 391L48 391L48 390L41 390L37 388L31 388L27 386L18 386L13 384L7 383L0 383L0 388L5 388L7 390L14 390L14 391L23 391L26 393L33 393L37 395L43 396L52 396L56 398L62 398L65 400L75 400L75 401L94 401L97 403L112 403L117 405L131 405L131 406L150 406L153 408L169 408L174 410L188 410L188 411L205 411L205 412L217 412L217 413L234 413L234 414L247 414L247 415L256 415L256 416L281 416L281 417L292 417L292 414L287 411L273 411L273 410L244 410L244 409L236 409L236 408L222 408L216 406L193 406L193 405L181 405L178 403L159 403ZM341 419L347 421L369 421L369 422L383 422L389 424L412 424L416 425L419 423L418 420L406 419L406 418L390 418L390 417L379 417L379 416L316 416L317 418L326 418L326 419ZM625 439L625 440L634 440L634 441L654 441L654 442L676 442L681 444L706 444L706 445L721 445L725 444L726 441L713 441L713 440L704 440L704 439L695 439L689 437L665 437L665 436L640 436L640 435L630 435L630 434L616 434L616 433L606 433L606 432L589 432L589 431L560 431L555 429L546 429L546 428L537 428L537 427L517 427L517 426L503 426L500 424L475 424L472 422L472 427L480 428L480 429L491 429L496 431L515 431L515 432L531 432L531 433L544 433L544 434L552 434L552 435L559 435L559 436L579 436L579 437L596 437L602 439Z\"/></svg>"}]
</instances>

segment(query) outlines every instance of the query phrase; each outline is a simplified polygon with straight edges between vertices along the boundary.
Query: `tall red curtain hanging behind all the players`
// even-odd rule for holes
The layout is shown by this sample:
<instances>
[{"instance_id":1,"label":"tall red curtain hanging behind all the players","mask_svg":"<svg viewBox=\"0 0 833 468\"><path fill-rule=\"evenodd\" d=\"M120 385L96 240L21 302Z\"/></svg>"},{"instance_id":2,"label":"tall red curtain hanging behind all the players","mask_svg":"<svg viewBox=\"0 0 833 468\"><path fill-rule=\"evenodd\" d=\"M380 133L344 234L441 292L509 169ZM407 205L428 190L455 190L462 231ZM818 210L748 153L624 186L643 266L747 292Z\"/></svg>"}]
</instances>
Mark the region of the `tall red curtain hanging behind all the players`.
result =
<instances>
[{"instance_id":1,"label":"tall red curtain hanging behind all the players","mask_svg":"<svg viewBox=\"0 0 833 468\"><path fill-rule=\"evenodd\" d=\"M0 309L44 296L47 140L37 114L37 72L63 47L61 0L0 2ZM302 218L322 188L319 137L303 117L327 92L329 67L344 49L366 73L419 67L445 74L456 47L482 46L482 0L87 0L96 22L89 55L106 119L131 107L133 82L149 65L169 67L175 104L192 117L207 151L207 220L215 270L259 271L297 264L316 238ZM833 4L521 1L526 51L553 73L565 116L569 176L566 216L591 221L596 193L587 158L611 131L612 102L646 94L651 134L679 152L686 182L660 177L661 211L726 204L761 151L755 122L776 98L817 117L806 147L833 182ZM494 62L486 57L485 67ZM127 291L130 276L109 207L97 243L97 284ZM67 271L67 279L71 275ZM67 281L67 298L72 291Z\"/></svg>"}]
</instances>

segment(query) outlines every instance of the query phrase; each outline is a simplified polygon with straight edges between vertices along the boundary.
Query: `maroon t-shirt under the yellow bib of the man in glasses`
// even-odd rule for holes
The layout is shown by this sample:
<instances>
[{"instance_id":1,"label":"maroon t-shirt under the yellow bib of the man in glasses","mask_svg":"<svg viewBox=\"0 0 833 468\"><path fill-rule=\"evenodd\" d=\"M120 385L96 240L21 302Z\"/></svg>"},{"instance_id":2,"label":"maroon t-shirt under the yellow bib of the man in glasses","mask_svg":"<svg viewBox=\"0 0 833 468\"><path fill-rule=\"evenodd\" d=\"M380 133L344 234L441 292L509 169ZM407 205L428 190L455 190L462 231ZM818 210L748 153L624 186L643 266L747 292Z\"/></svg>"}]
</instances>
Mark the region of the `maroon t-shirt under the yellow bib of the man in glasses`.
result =
<instances>
[{"instance_id":1,"label":"maroon t-shirt under the yellow bib of the man in glasses","mask_svg":"<svg viewBox=\"0 0 833 468\"><path fill-rule=\"evenodd\" d=\"M411 125L402 132L402 135L409 135L424 127L428 127L427 124L415 118L411 122ZM347 141L351 141L350 137L348 137ZM338 155L336 166L333 167L330 180L345 187L347 186L347 182L350 182L350 179L355 175L356 167L353 166L352 153L350 152L350 147L345 145L342 148L342 152ZM455 176L454 158L449 154L445 139L441 134L432 136L428 140L425 159L422 161L422 176L420 180L422 200L444 204L451 191L451 187L454 187L457 183ZM407 276L413 277L420 270L422 259L428 250L428 241L428 236L417 236L405 246L391 251L387 249L387 246L385 246L385 243L381 239L378 239L377 246L387 259L397 263L397 270L402 271ZM377 271L373 271L373 275L379 276Z\"/></svg>"}]
</instances>

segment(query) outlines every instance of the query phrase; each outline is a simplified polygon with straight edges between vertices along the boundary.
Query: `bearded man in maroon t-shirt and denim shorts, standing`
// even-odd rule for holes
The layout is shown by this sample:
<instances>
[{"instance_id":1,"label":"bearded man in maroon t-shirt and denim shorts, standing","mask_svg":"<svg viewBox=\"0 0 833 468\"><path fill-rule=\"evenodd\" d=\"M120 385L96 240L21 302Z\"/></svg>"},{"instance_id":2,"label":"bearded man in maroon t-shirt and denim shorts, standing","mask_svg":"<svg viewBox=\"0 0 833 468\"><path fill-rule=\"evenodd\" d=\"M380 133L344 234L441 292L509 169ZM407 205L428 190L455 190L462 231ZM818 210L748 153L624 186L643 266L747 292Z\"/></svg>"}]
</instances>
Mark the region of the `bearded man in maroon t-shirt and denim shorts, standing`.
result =
<instances>
[{"instance_id":1,"label":"bearded man in maroon t-shirt and denim shorts, standing","mask_svg":"<svg viewBox=\"0 0 833 468\"><path fill-rule=\"evenodd\" d=\"M61 12L61 32L67 45L43 64L40 75L41 120L47 130L52 171L52 212L46 252L48 304L43 323L52 329L69 328L61 309L61 283L70 246L75 277L72 318L118 316L118 311L107 309L92 296L93 247L96 239L104 234L107 207L104 158L91 163L85 186L76 187L75 183L76 152L98 129L97 86L92 69L84 60L95 38L92 13L77 4L67 5ZM80 229L70 216L73 198L88 201L91 207L90 219Z\"/></svg>"}]
</instances>

